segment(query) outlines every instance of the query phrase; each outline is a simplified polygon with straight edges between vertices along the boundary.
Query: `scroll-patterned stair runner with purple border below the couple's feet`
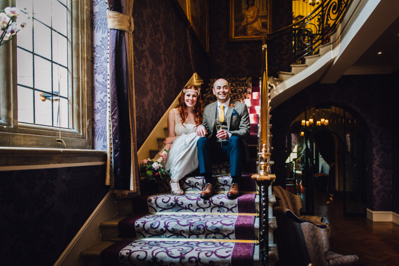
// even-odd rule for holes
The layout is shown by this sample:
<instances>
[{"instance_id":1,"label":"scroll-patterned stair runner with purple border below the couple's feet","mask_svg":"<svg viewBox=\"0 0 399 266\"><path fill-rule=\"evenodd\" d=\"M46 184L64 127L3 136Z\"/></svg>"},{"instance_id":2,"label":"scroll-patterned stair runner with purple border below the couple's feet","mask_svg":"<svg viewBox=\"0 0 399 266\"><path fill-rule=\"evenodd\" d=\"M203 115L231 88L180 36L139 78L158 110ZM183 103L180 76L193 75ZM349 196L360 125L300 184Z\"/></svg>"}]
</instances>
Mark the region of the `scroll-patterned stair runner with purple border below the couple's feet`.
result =
<instances>
[{"instance_id":1,"label":"scroll-patterned stair runner with purple border below the couple's feet","mask_svg":"<svg viewBox=\"0 0 399 266\"><path fill-rule=\"evenodd\" d=\"M228 176L218 176L221 189ZM193 182L195 181L195 182ZM227 199L218 191L201 199L203 178L186 177L185 195L158 193L147 198L150 214L134 214L118 224L119 241L101 252L103 265L242 265L257 264L255 232L259 229L255 182L243 176L251 192ZM195 183L196 186L190 184ZM142 204L137 200L134 205ZM123 240L130 238L130 242ZM166 239L168 238L168 239ZM205 255L206 254L206 255ZM104 264L113 261L113 264Z\"/></svg>"}]
</instances>

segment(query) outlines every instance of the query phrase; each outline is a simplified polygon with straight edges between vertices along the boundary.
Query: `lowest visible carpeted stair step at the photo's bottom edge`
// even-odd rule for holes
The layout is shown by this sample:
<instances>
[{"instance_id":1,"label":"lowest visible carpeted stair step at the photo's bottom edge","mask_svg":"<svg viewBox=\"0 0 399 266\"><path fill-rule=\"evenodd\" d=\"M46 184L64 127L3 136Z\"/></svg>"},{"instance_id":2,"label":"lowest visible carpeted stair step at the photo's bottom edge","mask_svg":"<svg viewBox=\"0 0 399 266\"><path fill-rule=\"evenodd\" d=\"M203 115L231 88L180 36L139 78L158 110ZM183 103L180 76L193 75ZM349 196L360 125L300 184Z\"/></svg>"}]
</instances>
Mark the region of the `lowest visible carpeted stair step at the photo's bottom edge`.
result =
<instances>
[{"instance_id":1,"label":"lowest visible carpeted stair step at the photo's bottom edge","mask_svg":"<svg viewBox=\"0 0 399 266\"><path fill-rule=\"evenodd\" d=\"M234 240L233 240L234 241ZM103 265L259 265L259 246L198 240L117 241L101 252ZM85 266L85 265L84 265Z\"/></svg>"}]
</instances>

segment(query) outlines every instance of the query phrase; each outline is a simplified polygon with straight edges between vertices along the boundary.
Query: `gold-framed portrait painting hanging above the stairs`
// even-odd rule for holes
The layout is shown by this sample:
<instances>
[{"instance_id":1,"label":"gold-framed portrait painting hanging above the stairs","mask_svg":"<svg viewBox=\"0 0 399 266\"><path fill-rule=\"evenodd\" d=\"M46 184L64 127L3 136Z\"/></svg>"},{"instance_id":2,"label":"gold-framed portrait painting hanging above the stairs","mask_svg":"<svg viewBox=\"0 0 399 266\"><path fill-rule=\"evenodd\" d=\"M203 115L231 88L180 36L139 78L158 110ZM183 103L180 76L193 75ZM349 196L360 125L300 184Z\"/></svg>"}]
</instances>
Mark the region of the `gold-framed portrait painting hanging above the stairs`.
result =
<instances>
[{"instance_id":1,"label":"gold-framed portrait painting hanging above the stairs","mask_svg":"<svg viewBox=\"0 0 399 266\"><path fill-rule=\"evenodd\" d=\"M270 32L271 0L230 0L229 40L262 40Z\"/></svg>"}]
</instances>

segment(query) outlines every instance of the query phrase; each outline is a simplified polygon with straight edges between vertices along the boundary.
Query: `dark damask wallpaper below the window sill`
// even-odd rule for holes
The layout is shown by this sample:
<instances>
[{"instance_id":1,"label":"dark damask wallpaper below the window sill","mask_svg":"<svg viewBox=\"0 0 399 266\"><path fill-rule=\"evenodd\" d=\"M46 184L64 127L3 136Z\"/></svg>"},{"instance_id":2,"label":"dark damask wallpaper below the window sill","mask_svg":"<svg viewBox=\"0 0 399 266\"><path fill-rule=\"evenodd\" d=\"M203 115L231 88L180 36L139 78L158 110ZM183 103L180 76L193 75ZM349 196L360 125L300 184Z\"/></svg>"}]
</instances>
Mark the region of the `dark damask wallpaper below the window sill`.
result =
<instances>
[{"instance_id":1,"label":"dark damask wallpaper below the window sill","mask_svg":"<svg viewBox=\"0 0 399 266\"><path fill-rule=\"evenodd\" d=\"M108 192L103 165L0 173L2 265L53 265Z\"/></svg>"}]
</instances>

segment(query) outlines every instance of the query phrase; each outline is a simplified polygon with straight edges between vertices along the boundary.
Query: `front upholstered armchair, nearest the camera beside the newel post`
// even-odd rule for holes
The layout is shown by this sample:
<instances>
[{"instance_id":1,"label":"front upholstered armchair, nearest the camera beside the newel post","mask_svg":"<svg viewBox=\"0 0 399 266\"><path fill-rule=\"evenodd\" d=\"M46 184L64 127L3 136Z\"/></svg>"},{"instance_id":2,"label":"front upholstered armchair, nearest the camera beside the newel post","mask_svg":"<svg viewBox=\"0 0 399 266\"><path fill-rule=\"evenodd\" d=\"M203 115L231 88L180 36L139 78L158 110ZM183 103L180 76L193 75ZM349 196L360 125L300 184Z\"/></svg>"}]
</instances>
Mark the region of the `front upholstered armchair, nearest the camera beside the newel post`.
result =
<instances>
[{"instance_id":1,"label":"front upholstered armchair, nearest the camera beside the newel post","mask_svg":"<svg viewBox=\"0 0 399 266\"><path fill-rule=\"evenodd\" d=\"M276 217L275 231L279 263L284 266L356 265L356 255L341 255L330 251L330 241L325 225L301 220L287 208L273 208Z\"/></svg>"}]
</instances>

